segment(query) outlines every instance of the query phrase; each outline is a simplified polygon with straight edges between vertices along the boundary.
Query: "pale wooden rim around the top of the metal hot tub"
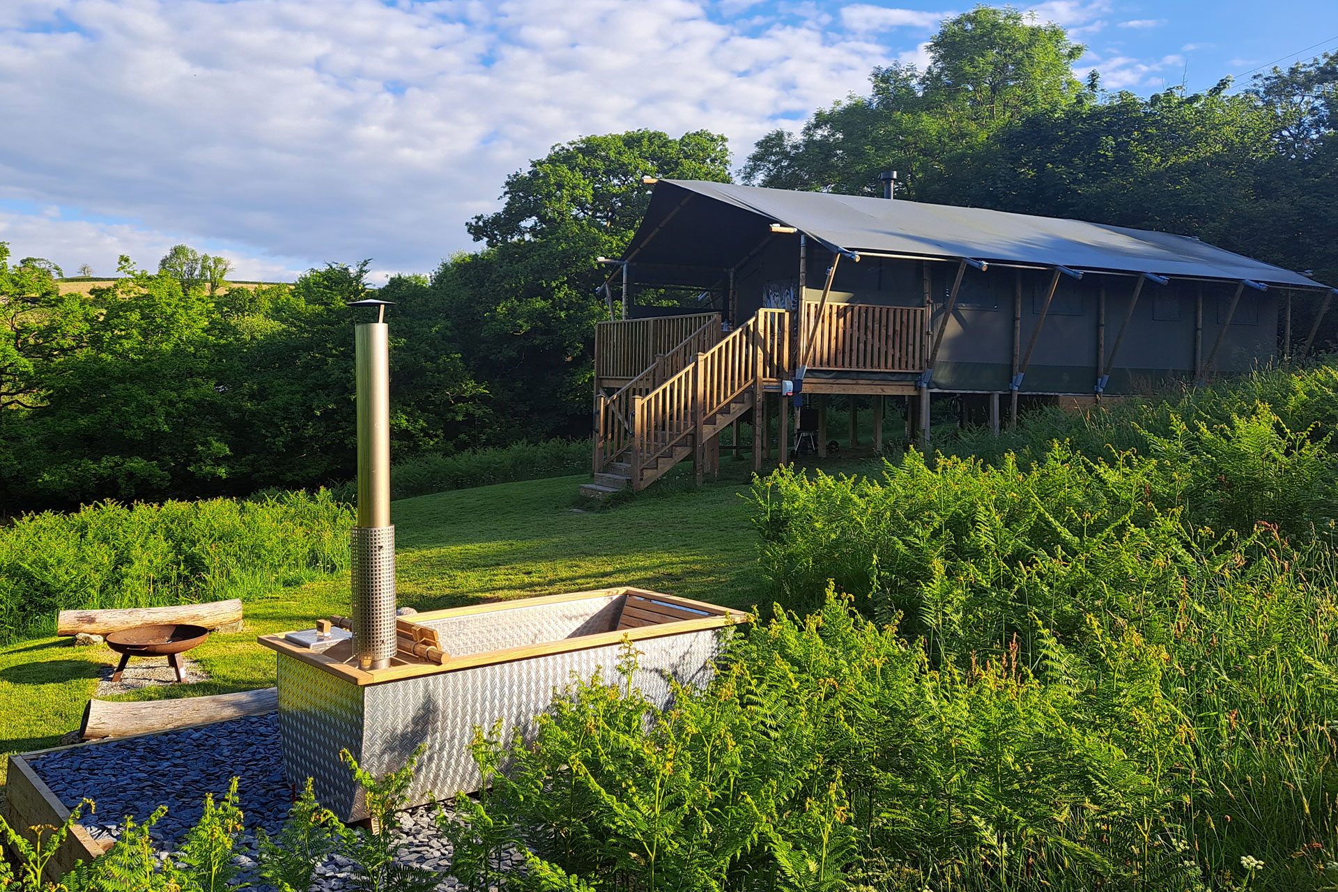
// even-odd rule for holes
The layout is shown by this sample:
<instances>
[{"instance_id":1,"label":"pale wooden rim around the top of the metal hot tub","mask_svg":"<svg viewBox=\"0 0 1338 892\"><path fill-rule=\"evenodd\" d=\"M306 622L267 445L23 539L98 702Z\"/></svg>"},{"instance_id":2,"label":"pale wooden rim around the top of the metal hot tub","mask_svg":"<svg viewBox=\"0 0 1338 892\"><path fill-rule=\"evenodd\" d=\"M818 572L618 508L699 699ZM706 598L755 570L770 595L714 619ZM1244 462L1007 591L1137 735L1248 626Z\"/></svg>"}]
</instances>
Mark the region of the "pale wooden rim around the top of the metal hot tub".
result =
<instances>
[{"instance_id":1,"label":"pale wooden rim around the top of the metal hot tub","mask_svg":"<svg viewBox=\"0 0 1338 892\"><path fill-rule=\"evenodd\" d=\"M459 657L448 657L442 663L435 663L417 658L407 658L404 655L395 657L392 665L387 669L373 669L363 670L357 666L352 666L344 659L336 658L341 657L345 650L352 651L349 645L336 646L330 650L316 654L309 649L290 645L284 639L284 633L274 635L261 635L257 642L269 647L280 654L286 654L293 659L298 659L304 663L317 666L332 675L343 678L347 682L357 685L359 687L365 685L380 685L384 682L400 681L403 678L417 678L420 675L436 675L440 673L459 671L462 669L474 669L478 666L491 666L495 663L510 663L519 659L529 659L531 657L543 657L547 654L561 654L566 651L575 650L591 650L595 647L607 647L610 645L618 645L624 639L633 642L645 641L649 638L662 638L666 635L680 635L690 631L704 631L709 629L724 629L727 626L735 626L748 619L748 614L741 610L732 610L729 607L721 607L719 604L709 604L704 600L693 600L690 598L680 598L677 595L665 595L658 591L649 591L645 588L634 587L617 587L617 588L595 588L593 591L575 591L562 595L542 595L538 598L516 598L511 600L495 600L486 604L468 604L466 607L447 607L444 610L429 610L421 614L413 614L412 617L401 617L401 619L409 619L411 622L432 622L438 619L450 619L452 617L468 617L474 614L487 614L487 612L500 612L506 610L520 610L524 607L538 607L542 604L554 604L565 600L587 600L591 598L609 598L609 596L632 596L637 599L645 599L652 604L658 602L662 606L682 608L682 612L705 614L704 617L694 619L676 619L669 611L665 611L665 621L656 622L645 617L637 617L636 614L642 608L634 607L630 619L636 619L645 625L622 626L624 618L619 615L618 629L611 631L595 633L593 635L579 635L577 638L561 638L557 641L539 642L537 645L522 645L519 647L504 647L500 650L482 651L478 654L462 654ZM626 610L626 603L624 604ZM649 611L653 612L653 611ZM334 657L326 657L325 654L334 654ZM347 657L345 657L347 658Z\"/></svg>"}]
</instances>

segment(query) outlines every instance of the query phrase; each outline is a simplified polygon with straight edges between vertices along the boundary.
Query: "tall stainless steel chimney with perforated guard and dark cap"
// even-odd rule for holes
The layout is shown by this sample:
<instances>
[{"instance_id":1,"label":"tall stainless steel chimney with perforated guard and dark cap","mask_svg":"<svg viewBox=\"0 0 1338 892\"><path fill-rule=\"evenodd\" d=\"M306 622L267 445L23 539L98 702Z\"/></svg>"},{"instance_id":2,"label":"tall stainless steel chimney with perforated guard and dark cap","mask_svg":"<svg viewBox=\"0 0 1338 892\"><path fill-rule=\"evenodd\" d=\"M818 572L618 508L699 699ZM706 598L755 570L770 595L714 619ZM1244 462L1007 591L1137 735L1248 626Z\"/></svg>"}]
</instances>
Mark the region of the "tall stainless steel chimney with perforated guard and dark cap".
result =
<instances>
[{"instance_id":1,"label":"tall stainless steel chimney with perforated guard and dark cap","mask_svg":"<svg viewBox=\"0 0 1338 892\"><path fill-rule=\"evenodd\" d=\"M353 655L363 669L385 669L395 655L395 527L391 526L391 364L385 322L353 326L357 376L357 526L349 542Z\"/></svg>"}]
</instances>

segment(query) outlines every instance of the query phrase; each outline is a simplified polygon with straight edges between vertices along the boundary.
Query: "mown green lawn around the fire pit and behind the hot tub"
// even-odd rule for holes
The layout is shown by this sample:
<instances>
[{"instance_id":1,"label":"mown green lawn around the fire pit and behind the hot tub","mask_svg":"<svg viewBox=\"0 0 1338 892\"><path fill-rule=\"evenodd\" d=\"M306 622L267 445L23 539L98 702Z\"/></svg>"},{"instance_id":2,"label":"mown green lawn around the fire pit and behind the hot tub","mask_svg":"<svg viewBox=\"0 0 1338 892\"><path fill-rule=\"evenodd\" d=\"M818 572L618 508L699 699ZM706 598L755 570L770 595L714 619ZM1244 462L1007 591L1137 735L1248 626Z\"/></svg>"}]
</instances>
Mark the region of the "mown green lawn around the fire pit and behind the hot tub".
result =
<instances>
[{"instance_id":1,"label":"mown green lawn around the fire pit and behind the hot tub","mask_svg":"<svg viewBox=\"0 0 1338 892\"><path fill-rule=\"evenodd\" d=\"M744 463L701 489L669 481L609 510L574 511L586 476L506 483L393 503L400 606L432 610L605 586L641 586L745 607L765 598ZM690 468L689 468L690 472ZM309 629L348 612L348 579L334 576L248 602L246 629L191 651L210 681L151 687L118 699L221 694L274 683L260 634ZM55 746L79 726L106 647L68 639L0 649L0 753ZM134 665L134 663L131 663ZM3 768L0 768L3 770Z\"/></svg>"}]
</instances>

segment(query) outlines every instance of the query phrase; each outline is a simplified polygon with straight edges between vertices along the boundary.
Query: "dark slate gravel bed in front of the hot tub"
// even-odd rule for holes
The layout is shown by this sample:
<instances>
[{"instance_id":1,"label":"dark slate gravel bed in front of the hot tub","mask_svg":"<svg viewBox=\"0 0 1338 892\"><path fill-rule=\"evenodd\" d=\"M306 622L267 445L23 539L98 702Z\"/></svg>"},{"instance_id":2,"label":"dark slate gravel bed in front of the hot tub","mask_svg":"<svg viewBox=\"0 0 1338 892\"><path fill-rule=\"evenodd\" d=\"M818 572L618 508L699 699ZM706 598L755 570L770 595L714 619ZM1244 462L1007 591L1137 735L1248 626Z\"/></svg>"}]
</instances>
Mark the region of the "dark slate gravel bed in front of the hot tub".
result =
<instances>
[{"instance_id":1,"label":"dark slate gravel bed in front of the hot tub","mask_svg":"<svg viewBox=\"0 0 1338 892\"><path fill-rule=\"evenodd\" d=\"M166 805L167 814L150 832L161 859L174 853L199 820L205 794L221 798L237 776L238 805L245 813L245 834L235 859L244 875L238 879L250 881L256 889L269 888L256 881L250 868L258 856L256 828L276 836L290 805L277 714L75 746L33 758L31 764L67 806L74 808L84 797L96 801L96 813L80 818L95 839L115 839L124 814L139 822L157 806ZM405 809L396 814L393 832L404 844L400 853L405 864L442 873L438 888L454 891L459 884L444 873L451 864L451 847L438 832L432 805ZM519 861L519 855L512 861ZM316 888L339 892L349 869L347 859L330 856L316 869Z\"/></svg>"}]
</instances>

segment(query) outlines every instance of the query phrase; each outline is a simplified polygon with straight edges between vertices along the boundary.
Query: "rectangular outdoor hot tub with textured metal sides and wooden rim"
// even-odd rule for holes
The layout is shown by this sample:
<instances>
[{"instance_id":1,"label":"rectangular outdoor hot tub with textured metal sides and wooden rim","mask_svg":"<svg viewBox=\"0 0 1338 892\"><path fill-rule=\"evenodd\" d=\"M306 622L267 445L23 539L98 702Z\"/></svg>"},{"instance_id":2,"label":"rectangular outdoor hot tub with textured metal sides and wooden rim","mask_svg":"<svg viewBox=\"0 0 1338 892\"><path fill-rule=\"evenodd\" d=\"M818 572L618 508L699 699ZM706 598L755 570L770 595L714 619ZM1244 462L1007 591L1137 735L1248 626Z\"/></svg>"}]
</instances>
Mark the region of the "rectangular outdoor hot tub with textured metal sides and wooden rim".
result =
<instances>
[{"instance_id":1,"label":"rectangular outdoor hot tub with textured metal sides and wooden rim","mask_svg":"<svg viewBox=\"0 0 1338 892\"><path fill-rule=\"evenodd\" d=\"M400 647L385 669L360 669L351 638L313 631L262 635L277 651L284 772L344 820L365 817L361 789L340 761L384 774L427 749L409 804L474 792L482 781L468 744L474 728L502 719L533 733L533 719L574 677L597 667L617 681L624 641L641 653L632 683L664 709L669 678L704 686L731 626L745 614L640 588L524 598L400 618ZM424 655L419 655L424 654Z\"/></svg>"}]
</instances>

